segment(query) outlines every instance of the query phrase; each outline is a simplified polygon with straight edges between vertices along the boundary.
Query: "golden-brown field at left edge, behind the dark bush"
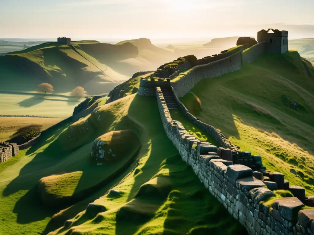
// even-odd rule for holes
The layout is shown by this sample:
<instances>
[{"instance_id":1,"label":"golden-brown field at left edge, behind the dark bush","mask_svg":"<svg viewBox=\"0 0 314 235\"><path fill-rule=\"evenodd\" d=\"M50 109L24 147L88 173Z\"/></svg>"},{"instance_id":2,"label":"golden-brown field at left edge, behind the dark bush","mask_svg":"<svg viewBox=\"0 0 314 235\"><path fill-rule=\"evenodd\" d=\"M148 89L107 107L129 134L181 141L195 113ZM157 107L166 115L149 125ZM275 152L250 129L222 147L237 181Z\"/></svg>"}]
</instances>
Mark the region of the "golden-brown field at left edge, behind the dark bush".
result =
<instances>
[{"instance_id":1,"label":"golden-brown field at left edge, behind the dark bush","mask_svg":"<svg viewBox=\"0 0 314 235\"><path fill-rule=\"evenodd\" d=\"M31 125L40 124L43 129L46 129L58 122L62 118L19 118L19 117L0 117L0 141L6 141L19 128Z\"/></svg>"}]
</instances>

